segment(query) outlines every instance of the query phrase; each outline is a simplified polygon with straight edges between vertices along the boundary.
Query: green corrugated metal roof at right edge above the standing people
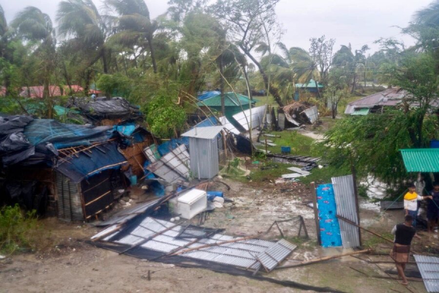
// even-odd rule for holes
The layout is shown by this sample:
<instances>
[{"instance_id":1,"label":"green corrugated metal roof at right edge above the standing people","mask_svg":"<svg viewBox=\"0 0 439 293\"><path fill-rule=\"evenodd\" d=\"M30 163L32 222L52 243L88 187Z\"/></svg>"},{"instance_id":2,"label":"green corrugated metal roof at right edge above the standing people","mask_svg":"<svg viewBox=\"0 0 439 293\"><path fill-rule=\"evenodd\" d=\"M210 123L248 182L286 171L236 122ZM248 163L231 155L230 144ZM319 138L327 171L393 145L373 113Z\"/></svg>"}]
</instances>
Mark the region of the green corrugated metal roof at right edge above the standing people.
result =
<instances>
[{"instance_id":1,"label":"green corrugated metal roof at right edge above the standing people","mask_svg":"<svg viewBox=\"0 0 439 293\"><path fill-rule=\"evenodd\" d=\"M401 149L407 172L439 172L439 148Z\"/></svg>"}]
</instances>

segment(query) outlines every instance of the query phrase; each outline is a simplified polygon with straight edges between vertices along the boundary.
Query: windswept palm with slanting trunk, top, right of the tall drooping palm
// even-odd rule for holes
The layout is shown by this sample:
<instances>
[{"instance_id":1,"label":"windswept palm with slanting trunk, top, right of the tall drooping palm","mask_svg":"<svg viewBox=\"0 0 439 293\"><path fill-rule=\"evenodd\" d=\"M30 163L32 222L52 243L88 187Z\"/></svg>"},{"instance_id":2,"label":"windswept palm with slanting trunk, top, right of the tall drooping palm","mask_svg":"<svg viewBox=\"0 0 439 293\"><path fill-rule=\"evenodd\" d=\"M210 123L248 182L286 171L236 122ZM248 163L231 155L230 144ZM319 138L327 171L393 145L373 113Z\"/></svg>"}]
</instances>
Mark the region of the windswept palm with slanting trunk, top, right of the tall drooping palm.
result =
<instances>
[{"instance_id":1,"label":"windswept palm with slanting trunk, top, right of the tall drooping palm","mask_svg":"<svg viewBox=\"0 0 439 293\"><path fill-rule=\"evenodd\" d=\"M154 33L158 29L158 23L151 21L145 1L105 0L105 4L118 14L115 20L118 32L110 38L110 41L130 47L135 45L147 47L154 73L157 73Z\"/></svg>"}]
</instances>

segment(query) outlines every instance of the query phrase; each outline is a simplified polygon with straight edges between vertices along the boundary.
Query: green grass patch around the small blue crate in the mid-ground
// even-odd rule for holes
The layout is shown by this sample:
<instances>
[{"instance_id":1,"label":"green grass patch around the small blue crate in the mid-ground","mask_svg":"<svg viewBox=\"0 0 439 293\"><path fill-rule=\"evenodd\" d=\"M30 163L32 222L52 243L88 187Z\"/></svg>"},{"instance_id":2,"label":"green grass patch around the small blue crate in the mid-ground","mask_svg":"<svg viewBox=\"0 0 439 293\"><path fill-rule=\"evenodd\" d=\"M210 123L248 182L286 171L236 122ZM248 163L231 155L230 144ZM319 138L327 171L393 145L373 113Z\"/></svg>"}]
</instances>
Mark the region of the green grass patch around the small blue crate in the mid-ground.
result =
<instances>
[{"instance_id":1,"label":"green grass patch around the small blue crate in the mid-ground","mask_svg":"<svg viewBox=\"0 0 439 293\"><path fill-rule=\"evenodd\" d=\"M278 137L267 137L267 140L273 141L277 146L267 146L267 149L272 153L280 154L281 146L290 146L291 155L300 156L312 156L313 150L312 145L315 142L314 139L300 134L298 131L275 131L271 134L280 136ZM265 137L262 135L260 137L260 142L264 144ZM259 148L264 149L265 146L259 146Z\"/></svg>"}]
</instances>

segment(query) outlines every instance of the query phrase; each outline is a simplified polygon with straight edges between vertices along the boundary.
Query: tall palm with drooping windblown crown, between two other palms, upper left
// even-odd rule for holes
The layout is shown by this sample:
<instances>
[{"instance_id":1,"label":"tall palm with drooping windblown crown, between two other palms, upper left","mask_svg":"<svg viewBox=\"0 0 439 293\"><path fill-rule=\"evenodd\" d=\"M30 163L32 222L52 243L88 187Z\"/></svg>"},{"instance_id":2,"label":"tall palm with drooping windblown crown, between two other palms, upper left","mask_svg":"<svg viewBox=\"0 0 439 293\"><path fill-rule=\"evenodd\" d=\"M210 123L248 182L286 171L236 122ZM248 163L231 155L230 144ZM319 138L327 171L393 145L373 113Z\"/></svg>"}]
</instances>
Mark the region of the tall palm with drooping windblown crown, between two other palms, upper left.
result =
<instances>
[{"instance_id":1,"label":"tall palm with drooping windblown crown, between two other palms, upper left","mask_svg":"<svg viewBox=\"0 0 439 293\"><path fill-rule=\"evenodd\" d=\"M108 73L105 46L107 25L92 0L63 0L58 6L58 32L72 51L80 52L84 63L84 92L87 95L92 74L91 66L102 60L103 72ZM106 93L108 94L108 93Z\"/></svg>"}]
</instances>

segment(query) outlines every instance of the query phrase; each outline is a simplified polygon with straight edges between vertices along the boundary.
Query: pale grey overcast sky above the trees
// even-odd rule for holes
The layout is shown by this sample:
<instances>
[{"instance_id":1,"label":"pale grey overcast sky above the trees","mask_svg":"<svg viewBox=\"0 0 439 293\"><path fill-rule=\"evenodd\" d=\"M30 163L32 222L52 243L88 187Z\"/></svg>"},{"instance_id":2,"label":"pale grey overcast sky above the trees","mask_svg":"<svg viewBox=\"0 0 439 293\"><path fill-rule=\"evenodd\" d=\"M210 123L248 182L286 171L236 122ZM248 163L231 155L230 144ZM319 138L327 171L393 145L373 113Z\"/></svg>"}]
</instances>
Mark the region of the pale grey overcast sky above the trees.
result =
<instances>
[{"instance_id":1,"label":"pale grey overcast sky above the trees","mask_svg":"<svg viewBox=\"0 0 439 293\"><path fill-rule=\"evenodd\" d=\"M326 35L336 39L335 50L341 44L352 44L353 49L363 44L378 49L373 42L380 37L395 37L406 45L413 39L400 33L413 13L432 0L280 0L277 15L285 34L282 41L287 47L309 48L309 39ZM7 21L25 6L33 5L55 19L60 0L0 0ZM101 0L94 0L100 7ZM145 0L152 18L164 13L167 0Z\"/></svg>"}]
</instances>

